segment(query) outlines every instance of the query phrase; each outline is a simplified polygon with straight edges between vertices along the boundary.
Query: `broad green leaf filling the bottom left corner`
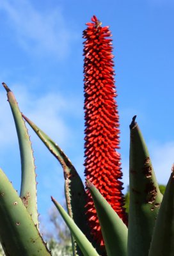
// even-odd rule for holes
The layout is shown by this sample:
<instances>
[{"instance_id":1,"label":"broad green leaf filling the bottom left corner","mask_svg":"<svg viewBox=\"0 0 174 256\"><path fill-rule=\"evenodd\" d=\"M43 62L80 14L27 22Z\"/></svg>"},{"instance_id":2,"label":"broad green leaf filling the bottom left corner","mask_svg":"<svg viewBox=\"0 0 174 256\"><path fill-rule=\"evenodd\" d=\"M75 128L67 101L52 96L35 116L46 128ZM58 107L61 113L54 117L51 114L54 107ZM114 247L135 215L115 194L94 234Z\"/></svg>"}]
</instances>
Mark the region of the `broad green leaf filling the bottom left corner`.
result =
<instances>
[{"instance_id":1,"label":"broad green leaf filling the bottom left corner","mask_svg":"<svg viewBox=\"0 0 174 256\"><path fill-rule=\"evenodd\" d=\"M0 240L6 255L51 255L17 191L0 169Z\"/></svg>"}]
</instances>

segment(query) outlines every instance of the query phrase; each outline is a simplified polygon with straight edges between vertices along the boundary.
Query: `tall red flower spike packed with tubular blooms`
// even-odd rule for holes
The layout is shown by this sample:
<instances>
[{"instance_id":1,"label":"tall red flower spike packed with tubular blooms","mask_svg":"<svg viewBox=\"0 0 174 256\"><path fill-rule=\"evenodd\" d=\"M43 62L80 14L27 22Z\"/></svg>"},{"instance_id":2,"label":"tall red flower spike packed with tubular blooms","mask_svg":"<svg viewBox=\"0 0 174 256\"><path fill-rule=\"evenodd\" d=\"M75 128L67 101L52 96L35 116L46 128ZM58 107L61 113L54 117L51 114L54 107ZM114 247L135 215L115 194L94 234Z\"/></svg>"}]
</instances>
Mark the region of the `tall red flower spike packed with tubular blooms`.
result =
<instances>
[{"instance_id":1,"label":"tall red flower spike packed with tubular blooms","mask_svg":"<svg viewBox=\"0 0 174 256\"><path fill-rule=\"evenodd\" d=\"M107 202L127 223L122 193L120 167L119 116L115 101L115 72L113 47L109 27L101 26L97 17L91 18L83 31L84 42L84 113L85 113L85 175L106 198ZM88 193L89 225L94 238L104 245L99 220Z\"/></svg>"}]
</instances>

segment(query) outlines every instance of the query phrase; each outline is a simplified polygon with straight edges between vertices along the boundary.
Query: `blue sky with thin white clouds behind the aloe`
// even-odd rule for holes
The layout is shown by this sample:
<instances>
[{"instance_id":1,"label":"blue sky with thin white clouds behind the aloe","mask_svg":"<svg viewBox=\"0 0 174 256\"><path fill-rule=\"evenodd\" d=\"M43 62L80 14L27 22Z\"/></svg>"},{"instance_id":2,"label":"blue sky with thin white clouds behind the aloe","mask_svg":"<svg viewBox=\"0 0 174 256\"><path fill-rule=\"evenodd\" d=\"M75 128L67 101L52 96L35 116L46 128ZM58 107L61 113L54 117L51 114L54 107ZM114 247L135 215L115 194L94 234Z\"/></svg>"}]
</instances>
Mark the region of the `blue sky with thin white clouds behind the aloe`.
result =
<instances>
[{"instance_id":1,"label":"blue sky with thin white clouds behind the aloe","mask_svg":"<svg viewBox=\"0 0 174 256\"><path fill-rule=\"evenodd\" d=\"M172 0L0 0L1 82L13 90L20 110L65 151L83 180L82 32L95 14L113 33L124 187L134 115L157 180L166 184L174 162L173 12ZM0 166L19 190L19 147L3 86L0 102ZM29 134L38 166L38 211L46 220L50 196L63 202L63 173L31 129Z\"/></svg>"}]
</instances>

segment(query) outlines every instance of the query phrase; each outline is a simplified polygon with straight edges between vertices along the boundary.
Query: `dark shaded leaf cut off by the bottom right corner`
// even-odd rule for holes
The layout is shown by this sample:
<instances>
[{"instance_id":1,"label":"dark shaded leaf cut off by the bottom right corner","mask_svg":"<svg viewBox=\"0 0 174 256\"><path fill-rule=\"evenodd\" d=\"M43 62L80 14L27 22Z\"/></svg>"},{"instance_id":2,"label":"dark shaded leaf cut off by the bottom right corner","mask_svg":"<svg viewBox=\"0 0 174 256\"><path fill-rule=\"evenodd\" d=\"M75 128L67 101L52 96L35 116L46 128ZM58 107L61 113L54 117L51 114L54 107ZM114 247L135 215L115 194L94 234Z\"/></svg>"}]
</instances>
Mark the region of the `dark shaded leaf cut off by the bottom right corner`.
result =
<instances>
[{"instance_id":1,"label":"dark shaded leaf cut off by the bottom right corner","mask_svg":"<svg viewBox=\"0 0 174 256\"><path fill-rule=\"evenodd\" d=\"M174 166L155 223L149 256L174 255Z\"/></svg>"}]
</instances>

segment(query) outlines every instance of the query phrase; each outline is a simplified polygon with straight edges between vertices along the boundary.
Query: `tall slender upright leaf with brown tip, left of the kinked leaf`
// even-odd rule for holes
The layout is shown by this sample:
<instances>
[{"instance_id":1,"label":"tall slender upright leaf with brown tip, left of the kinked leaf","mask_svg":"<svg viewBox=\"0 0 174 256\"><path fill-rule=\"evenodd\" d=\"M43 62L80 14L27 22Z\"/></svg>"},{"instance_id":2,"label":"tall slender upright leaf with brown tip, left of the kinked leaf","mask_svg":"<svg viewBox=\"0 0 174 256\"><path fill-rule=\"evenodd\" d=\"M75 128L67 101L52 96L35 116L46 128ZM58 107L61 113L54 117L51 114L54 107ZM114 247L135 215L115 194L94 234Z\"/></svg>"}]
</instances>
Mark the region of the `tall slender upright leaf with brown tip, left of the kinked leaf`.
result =
<instances>
[{"instance_id":1,"label":"tall slender upright leaf with brown tip, left of the kinked leaf","mask_svg":"<svg viewBox=\"0 0 174 256\"><path fill-rule=\"evenodd\" d=\"M28 130L20 113L20 109L13 92L10 90L10 88L8 88L5 83L3 83L3 86L7 92L8 102L10 103L10 107L12 109L15 127L17 130L17 136L19 140L20 161L22 170L20 197L22 198L22 202L28 209L29 214L31 214L31 218L33 219L34 223L38 227L35 160L33 157L33 150L31 148L31 141L29 140Z\"/></svg>"}]
</instances>

